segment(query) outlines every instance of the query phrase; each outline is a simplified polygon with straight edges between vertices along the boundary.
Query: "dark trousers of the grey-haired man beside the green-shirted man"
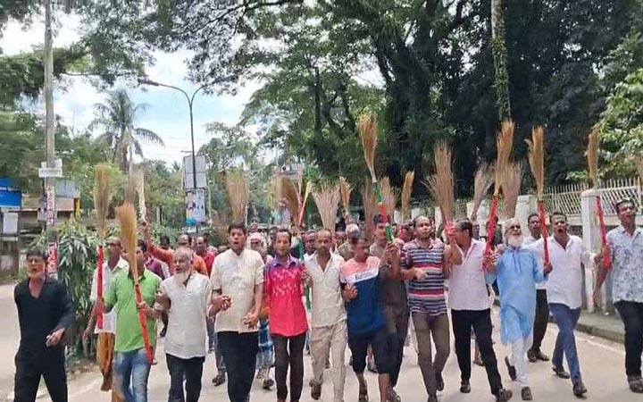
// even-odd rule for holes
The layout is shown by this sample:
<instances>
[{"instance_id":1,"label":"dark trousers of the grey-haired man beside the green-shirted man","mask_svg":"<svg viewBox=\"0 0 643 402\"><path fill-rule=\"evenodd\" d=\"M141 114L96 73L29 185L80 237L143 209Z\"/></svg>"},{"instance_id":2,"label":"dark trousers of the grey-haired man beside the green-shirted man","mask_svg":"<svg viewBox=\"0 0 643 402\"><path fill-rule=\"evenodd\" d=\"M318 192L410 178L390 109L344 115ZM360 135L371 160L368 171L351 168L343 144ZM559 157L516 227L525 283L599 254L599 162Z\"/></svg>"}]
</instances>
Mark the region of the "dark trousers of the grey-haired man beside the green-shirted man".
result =
<instances>
[{"instance_id":1,"label":"dark trousers of the grey-haired man beside the green-shirted man","mask_svg":"<svg viewBox=\"0 0 643 402\"><path fill-rule=\"evenodd\" d=\"M196 402L201 396L201 376L205 357L182 359L165 354L170 372L170 392L168 402ZM185 394L183 393L185 380Z\"/></svg>"}]
</instances>

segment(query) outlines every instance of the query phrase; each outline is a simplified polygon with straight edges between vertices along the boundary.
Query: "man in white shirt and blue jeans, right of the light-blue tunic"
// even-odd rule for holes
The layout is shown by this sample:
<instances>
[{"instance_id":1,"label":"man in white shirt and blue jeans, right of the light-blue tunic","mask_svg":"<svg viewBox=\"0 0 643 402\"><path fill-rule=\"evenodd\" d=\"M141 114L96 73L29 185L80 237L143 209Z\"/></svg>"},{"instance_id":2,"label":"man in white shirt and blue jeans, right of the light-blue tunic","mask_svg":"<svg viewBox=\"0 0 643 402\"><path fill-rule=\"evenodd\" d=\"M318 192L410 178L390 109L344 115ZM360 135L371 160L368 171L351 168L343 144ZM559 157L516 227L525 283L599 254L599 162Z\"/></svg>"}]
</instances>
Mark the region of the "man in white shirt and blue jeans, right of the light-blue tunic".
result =
<instances>
[{"instance_id":1,"label":"man in white shirt and blue jeans, right of the light-blue tunic","mask_svg":"<svg viewBox=\"0 0 643 402\"><path fill-rule=\"evenodd\" d=\"M547 301L549 311L554 315L558 325L554 356L552 364L554 373L563 379L570 378L570 374L563 369L563 355L567 358L567 365L572 372L573 394L582 397L587 389L580 376L580 364L576 350L574 328L580 317L582 306L582 265L590 264L591 254L583 246L583 241L578 236L567 233L567 217L562 213L551 215L554 235L547 238L549 247L549 260L552 272L547 278ZM530 248L542 255L543 240L540 239L530 245ZM599 255L595 255L598 257ZM540 256L541 257L541 256Z\"/></svg>"}]
</instances>

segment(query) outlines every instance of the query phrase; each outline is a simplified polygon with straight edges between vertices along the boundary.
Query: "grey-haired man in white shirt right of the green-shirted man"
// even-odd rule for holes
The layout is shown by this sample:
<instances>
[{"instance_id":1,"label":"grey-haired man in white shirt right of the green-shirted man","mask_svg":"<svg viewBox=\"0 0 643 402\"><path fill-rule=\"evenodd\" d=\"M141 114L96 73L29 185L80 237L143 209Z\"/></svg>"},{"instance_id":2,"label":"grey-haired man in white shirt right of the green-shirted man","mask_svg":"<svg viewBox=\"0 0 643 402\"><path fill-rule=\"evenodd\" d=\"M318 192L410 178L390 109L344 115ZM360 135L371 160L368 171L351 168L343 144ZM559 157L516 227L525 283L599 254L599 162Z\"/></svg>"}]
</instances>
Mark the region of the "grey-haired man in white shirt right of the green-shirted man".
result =
<instances>
[{"instance_id":1,"label":"grey-haired man in white shirt right of the green-shirted man","mask_svg":"<svg viewBox=\"0 0 643 402\"><path fill-rule=\"evenodd\" d=\"M168 313L165 358L170 372L170 402L196 402L201 396L201 377L207 353L206 314L210 281L192 269L193 251L174 252L175 273L161 283L156 301ZM185 381L185 394L183 392Z\"/></svg>"}]
</instances>

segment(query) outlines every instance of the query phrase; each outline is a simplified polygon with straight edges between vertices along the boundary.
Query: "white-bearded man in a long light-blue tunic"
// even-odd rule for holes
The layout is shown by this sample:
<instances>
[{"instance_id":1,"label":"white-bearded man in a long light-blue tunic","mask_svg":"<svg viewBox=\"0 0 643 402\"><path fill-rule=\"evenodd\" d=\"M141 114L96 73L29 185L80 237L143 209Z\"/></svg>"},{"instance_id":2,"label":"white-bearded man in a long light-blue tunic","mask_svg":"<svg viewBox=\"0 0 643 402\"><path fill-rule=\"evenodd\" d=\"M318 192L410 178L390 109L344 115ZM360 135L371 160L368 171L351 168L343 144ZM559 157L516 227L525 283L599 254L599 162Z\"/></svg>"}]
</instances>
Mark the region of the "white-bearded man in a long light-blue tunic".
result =
<instances>
[{"instance_id":1,"label":"white-bearded man in a long light-blue tunic","mask_svg":"<svg viewBox=\"0 0 643 402\"><path fill-rule=\"evenodd\" d=\"M500 337L503 344L512 346L511 355L505 357L509 376L520 382L522 400L532 400L525 354L533 341L536 284L545 281L551 264L543 268L536 256L522 247L522 229L516 218L505 224L505 247L492 256L489 265L493 273L488 281L493 282L496 276L500 290Z\"/></svg>"}]
</instances>

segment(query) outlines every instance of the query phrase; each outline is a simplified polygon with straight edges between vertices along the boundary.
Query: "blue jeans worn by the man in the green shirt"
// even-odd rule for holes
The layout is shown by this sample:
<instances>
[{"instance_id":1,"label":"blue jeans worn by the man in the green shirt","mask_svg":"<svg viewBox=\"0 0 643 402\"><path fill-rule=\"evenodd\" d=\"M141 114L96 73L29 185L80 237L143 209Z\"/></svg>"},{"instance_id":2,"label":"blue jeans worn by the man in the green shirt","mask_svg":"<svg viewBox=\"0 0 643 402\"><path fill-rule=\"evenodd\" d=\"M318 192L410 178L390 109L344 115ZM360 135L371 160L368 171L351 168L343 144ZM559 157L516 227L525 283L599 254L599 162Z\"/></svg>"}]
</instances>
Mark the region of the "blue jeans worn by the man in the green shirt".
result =
<instances>
[{"instance_id":1,"label":"blue jeans worn by the man in the green shirt","mask_svg":"<svg viewBox=\"0 0 643 402\"><path fill-rule=\"evenodd\" d=\"M116 352L113 360L113 387L125 402L147 402L150 364L145 348Z\"/></svg>"}]
</instances>

